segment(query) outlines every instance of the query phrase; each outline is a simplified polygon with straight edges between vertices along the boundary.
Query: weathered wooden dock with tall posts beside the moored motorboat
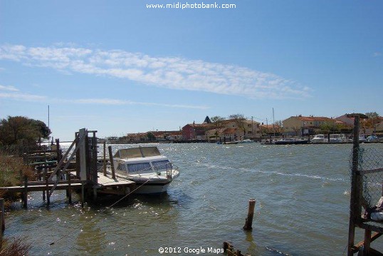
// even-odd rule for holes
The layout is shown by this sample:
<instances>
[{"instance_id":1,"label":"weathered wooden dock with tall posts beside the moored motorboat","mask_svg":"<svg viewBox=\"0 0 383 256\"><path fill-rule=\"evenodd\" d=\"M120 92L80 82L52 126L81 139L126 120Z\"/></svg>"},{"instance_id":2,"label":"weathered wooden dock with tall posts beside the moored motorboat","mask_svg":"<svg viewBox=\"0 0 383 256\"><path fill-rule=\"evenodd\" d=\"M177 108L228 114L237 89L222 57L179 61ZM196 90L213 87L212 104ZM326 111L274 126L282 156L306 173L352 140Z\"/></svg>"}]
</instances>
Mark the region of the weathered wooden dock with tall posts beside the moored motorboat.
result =
<instances>
[{"instance_id":1,"label":"weathered wooden dock with tall posts beside the moored motorboat","mask_svg":"<svg viewBox=\"0 0 383 256\"><path fill-rule=\"evenodd\" d=\"M82 205L85 199L95 200L99 193L129 195L136 188L135 182L115 177L114 168L112 175L107 175L105 168L103 173L98 171L98 140L95 133L96 130L80 129L64 155L59 140L49 149L29 152L23 149L23 162L33 170L33 175L20 173L19 186L0 188L0 191L4 195L22 193L24 208L27 208L27 195L31 191L41 191L47 206L55 190L66 190L69 203L72 202L72 190L80 192ZM103 149L103 162L106 163L105 143Z\"/></svg>"}]
</instances>

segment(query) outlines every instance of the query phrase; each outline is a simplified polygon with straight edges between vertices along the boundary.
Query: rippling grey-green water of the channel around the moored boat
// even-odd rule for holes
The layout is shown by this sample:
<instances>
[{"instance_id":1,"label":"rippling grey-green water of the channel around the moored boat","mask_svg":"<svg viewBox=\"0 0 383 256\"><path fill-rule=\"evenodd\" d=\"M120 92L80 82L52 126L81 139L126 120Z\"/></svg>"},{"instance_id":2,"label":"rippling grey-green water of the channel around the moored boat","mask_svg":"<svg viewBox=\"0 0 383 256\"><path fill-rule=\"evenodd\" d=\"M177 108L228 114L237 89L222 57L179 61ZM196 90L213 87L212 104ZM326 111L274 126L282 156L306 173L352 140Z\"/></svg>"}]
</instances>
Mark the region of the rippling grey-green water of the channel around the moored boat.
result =
<instances>
[{"instance_id":1,"label":"rippling grey-green water of the channel around the moored boat","mask_svg":"<svg viewBox=\"0 0 383 256\"><path fill-rule=\"evenodd\" d=\"M117 198L81 208L55 191L46 209L41 193L29 193L28 210L16 203L6 214L5 236L26 237L32 255L160 255L159 247L172 247L162 255L214 255L209 248L225 241L252 255L347 254L352 145L157 146L182 171L167 195L107 209ZM253 231L244 232L251 198ZM379 239L372 247L383 250Z\"/></svg>"}]
</instances>

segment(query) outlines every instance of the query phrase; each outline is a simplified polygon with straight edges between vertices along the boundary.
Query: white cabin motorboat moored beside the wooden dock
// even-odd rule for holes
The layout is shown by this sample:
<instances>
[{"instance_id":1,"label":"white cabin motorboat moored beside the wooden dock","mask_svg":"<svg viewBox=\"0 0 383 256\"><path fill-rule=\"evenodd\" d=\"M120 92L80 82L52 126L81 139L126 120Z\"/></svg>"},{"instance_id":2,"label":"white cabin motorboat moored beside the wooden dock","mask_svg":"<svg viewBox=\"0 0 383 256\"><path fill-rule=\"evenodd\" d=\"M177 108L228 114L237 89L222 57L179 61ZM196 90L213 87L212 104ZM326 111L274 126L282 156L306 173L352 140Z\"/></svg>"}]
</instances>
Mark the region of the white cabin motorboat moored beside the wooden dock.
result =
<instances>
[{"instance_id":1,"label":"white cabin motorboat moored beside the wooden dock","mask_svg":"<svg viewBox=\"0 0 383 256\"><path fill-rule=\"evenodd\" d=\"M135 193L154 194L167 191L169 184L179 176L179 168L161 155L157 147L125 148L113 157L115 175L132 180Z\"/></svg>"}]
</instances>

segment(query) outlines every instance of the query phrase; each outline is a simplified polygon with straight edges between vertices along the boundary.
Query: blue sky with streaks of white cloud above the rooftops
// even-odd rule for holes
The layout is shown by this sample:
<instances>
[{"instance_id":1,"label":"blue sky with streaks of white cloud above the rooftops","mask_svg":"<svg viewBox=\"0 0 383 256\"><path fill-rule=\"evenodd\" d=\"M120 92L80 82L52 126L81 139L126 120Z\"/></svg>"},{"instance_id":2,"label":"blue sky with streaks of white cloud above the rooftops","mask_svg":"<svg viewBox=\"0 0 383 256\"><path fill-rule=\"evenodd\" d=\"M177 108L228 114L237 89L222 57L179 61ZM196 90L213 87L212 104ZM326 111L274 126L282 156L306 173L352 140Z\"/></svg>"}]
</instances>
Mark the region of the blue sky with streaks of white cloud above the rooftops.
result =
<instances>
[{"instance_id":1,"label":"blue sky with streaks of white cloud above the rooftops","mask_svg":"<svg viewBox=\"0 0 383 256\"><path fill-rule=\"evenodd\" d=\"M206 116L382 116L382 13L380 0L0 0L0 118L63 141Z\"/></svg>"}]
</instances>

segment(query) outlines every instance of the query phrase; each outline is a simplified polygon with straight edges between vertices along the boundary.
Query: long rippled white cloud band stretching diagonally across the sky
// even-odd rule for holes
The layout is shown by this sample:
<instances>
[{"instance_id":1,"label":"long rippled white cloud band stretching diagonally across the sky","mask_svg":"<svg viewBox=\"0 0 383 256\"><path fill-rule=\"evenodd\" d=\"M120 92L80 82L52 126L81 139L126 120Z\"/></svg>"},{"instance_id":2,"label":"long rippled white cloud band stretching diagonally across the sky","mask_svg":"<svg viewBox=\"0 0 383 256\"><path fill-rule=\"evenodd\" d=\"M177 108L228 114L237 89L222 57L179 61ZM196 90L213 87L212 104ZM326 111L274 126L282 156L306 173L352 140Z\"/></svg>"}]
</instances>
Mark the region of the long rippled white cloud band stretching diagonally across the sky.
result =
<instances>
[{"instance_id":1,"label":"long rippled white cloud band stretching diagonally across the sky","mask_svg":"<svg viewBox=\"0 0 383 256\"><path fill-rule=\"evenodd\" d=\"M137 81L149 86L188 91L246 96L250 98L302 98L310 88L273 73L241 66L153 57L127 51L80 47L0 46L0 59L28 66L55 68L70 73L86 73Z\"/></svg>"}]
</instances>

